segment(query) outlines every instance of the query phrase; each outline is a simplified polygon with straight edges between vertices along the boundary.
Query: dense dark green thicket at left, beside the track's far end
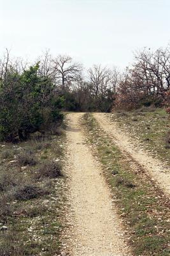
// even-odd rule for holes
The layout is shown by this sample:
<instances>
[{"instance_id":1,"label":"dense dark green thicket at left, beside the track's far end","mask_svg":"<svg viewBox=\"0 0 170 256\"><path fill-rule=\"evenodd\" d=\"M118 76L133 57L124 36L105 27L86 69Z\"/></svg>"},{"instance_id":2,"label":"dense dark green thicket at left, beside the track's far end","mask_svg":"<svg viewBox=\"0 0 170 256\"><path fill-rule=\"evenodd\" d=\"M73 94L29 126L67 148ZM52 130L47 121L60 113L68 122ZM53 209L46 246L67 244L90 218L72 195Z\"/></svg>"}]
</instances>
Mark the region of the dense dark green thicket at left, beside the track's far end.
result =
<instances>
[{"instance_id":1,"label":"dense dark green thicket at left, beside the track's far end","mask_svg":"<svg viewBox=\"0 0 170 256\"><path fill-rule=\"evenodd\" d=\"M40 62L23 68L7 52L0 64L0 140L25 140L62 121L63 99L55 93L52 78L41 74Z\"/></svg>"}]
</instances>

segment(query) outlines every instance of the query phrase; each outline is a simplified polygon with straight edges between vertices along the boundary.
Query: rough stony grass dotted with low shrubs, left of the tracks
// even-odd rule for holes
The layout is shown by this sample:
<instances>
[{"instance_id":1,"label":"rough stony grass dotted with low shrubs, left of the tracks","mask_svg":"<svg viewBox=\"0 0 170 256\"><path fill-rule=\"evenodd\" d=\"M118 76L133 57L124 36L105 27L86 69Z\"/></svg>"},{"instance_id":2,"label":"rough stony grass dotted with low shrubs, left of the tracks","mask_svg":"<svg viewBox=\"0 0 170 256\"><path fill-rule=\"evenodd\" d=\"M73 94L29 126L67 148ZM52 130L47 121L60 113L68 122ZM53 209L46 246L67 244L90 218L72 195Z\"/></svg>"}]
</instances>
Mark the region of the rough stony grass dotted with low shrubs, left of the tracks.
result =
<instances>
[{"instance_id":1,"label":"rough stony grass dotted with low shrubs, left of the tracks","mask_svg":"<svg viewBox=\"0 0 170 256\"><path fill-rule=\"evenodd\" d=\"M34 134L0 145L0 255L54 255L60 251L65 133Z\"/></svg>"}]
</instances>

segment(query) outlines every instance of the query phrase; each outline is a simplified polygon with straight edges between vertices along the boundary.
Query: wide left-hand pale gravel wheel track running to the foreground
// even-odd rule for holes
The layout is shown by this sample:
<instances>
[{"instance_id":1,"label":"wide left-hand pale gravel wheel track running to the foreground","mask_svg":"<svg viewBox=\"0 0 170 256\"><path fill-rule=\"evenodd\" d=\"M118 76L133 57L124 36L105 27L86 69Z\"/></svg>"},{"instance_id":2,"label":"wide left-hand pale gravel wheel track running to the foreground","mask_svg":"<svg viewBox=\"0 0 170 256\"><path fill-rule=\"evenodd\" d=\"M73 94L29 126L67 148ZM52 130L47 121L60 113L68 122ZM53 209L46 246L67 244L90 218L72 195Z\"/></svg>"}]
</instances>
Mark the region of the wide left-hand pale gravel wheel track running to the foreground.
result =
<instances>
[{"instance_id":1,"label":"wide left-hand pale gravel wheel track running to the foreground","mask_svg":"<svg viewBox=\"0 0 170 256\"><path fill-rule=\"evenodd\" d=\"M73 256L130 256L121 220L111 200L102 169L84 143L79 125L82 113L70 113L68 165L71 211L69 247Z\"/></svg>"}]
</instances>

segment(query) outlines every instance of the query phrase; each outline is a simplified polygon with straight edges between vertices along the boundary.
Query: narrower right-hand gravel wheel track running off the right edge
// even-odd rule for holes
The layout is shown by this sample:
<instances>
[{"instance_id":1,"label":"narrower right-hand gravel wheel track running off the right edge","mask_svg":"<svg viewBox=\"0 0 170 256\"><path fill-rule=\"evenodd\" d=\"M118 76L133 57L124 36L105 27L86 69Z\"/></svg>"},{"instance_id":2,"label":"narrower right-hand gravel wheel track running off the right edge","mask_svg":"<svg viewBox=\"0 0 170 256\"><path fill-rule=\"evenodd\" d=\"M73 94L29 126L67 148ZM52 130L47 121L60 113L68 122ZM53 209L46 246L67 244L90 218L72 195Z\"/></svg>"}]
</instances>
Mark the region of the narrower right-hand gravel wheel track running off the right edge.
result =
<instances>
[{"instance_id":1,"label":"narrower right-hand gravel wheel track running off the right edge","mask_svg":"<svg viewBox=\"0 0 170 256\"><path fill-rule=\"evenodd\" d=\"M94 117L101 125L101 128L107 132L114 143L124 152L129 154L134 161L139 163L145 172L152 177L160 188L169 196L170 194L170 170L169 168L163 166L163 164L158 160L149 155L146 150L140 148L139 143L120 131L116 122L110 120L110 118L105 113L94 113Z\"/></svg>"}]
</instances>

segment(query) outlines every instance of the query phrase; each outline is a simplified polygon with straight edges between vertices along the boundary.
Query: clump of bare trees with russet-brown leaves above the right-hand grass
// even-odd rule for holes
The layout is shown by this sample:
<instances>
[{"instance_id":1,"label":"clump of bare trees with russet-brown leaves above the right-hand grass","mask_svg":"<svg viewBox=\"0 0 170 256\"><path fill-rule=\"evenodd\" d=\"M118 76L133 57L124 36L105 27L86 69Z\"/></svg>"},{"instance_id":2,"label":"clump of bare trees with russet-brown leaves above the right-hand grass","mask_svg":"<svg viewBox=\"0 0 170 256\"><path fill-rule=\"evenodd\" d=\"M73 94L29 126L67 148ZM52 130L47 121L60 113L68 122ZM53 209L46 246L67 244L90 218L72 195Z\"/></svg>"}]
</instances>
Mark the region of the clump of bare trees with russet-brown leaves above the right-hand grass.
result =
<instances>
[{"instance_id":1,"label":"clump of bare trees with russet-brown leaves above the right-hand grass","mask_svg":"<svg viewBox=\"0 0 170 256\"><path fill-rule=\"evenodd\" d=\"M170 48L156 51L143 49L134 54L134 63L126 68L117 88L117 108L139 108L140 106L167 106L170 90Z\"/></svg>"}]
</instances>

